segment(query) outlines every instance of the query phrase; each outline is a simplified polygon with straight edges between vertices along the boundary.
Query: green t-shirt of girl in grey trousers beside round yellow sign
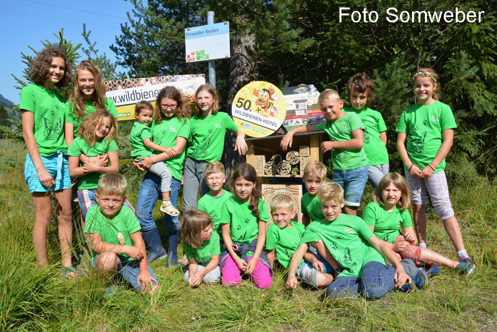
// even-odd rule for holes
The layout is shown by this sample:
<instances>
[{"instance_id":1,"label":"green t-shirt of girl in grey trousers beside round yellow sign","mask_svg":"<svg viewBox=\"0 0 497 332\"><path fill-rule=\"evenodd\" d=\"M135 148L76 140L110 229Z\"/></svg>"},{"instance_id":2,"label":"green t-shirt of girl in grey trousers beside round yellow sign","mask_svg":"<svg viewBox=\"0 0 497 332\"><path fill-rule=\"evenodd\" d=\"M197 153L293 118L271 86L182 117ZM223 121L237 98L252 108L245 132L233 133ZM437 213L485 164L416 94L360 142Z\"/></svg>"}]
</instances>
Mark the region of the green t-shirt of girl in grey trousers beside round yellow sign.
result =
<instances>
[{"instance_id":1,"label":"green t-shirt of girl in grey trousers beside round yellow sign","mask_svg":"<svg viewBox=\"0 0 497 332\"><path fill-rule=\"evenodd\" d=\"M191 135L188 139L188 157L195 160L211 162L221 160L224 150L224 137L227 131L237 131L238 126L225 112L217 112L207 117L191 118Z\"/></svg>"}]
</instances>

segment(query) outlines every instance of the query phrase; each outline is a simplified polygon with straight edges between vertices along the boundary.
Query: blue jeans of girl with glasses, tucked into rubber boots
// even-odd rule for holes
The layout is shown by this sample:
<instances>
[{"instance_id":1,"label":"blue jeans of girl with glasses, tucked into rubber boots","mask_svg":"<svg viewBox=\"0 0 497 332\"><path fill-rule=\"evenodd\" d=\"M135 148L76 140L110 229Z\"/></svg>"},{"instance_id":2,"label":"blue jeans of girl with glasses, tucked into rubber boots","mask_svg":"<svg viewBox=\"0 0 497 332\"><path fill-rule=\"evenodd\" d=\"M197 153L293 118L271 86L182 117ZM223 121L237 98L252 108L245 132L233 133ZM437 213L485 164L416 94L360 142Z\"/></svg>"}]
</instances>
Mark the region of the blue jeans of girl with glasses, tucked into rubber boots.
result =
<instances>
[{"instance_id":1,"label":"blue jeans of girl with glasses, tucked into rubber boots","mask_svg":"<svg viewBox=\"0 0 497 332\"><path fill-rule=\"evenodd\" d=\"M147 172L143 178L142 185L140 186L140 192L138 193L138 200L136 202L135 214L140 221L142 230L151 230L156 227L154 218L152 218L152 210L158 199L162 200L162 196L159 197L161 192L161 178L155 174ZM171 191L170 198L171 204L174 208L178 208L178 194L180 181L171 178ZM179 232L179 217L169 216L164 214L164 223L167 227L167 232L169 236L176 235Z\"/></svg>"}]
</instances>

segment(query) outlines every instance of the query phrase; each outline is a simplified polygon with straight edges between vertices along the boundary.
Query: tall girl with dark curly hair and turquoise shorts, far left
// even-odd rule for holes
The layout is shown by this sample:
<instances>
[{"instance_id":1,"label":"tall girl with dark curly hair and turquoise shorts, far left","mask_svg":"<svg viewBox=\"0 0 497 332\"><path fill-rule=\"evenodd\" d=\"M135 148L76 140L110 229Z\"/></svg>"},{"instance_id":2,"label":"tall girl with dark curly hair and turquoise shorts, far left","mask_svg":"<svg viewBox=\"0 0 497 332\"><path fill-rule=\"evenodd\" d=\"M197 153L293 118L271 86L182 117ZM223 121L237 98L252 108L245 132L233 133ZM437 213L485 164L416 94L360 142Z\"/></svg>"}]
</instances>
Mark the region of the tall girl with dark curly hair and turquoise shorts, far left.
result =
<instances>
[{"instance_id":1,"label":"tall girl with dark curly hair and turquoise shorts, far left","mask_svg":"<svg viewBox=\"0 0 497 332\"><path fill-rule=\"evenodd\" d=\"M71 82L71 63L58 47L47 47L31 63L32 84L21 90L22 136L27 154L24 177L35 208L33 245L40 268L48 267L47 227L52 217L52 194L59 221L63 277L74 277L71 248L71 178L64 141L64 98L55 88Z\"/></svg>"}]
</instances>

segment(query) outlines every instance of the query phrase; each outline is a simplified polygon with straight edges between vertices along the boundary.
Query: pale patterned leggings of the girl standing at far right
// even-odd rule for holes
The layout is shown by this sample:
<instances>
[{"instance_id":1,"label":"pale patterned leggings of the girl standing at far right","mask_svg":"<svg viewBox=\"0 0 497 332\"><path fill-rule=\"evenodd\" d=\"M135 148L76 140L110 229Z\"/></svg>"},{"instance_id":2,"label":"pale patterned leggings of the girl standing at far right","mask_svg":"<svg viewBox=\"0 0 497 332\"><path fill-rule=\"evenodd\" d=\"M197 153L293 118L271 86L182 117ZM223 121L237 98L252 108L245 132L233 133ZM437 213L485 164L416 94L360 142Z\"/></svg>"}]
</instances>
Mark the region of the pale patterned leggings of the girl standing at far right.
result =
<instances>
[{"instance_id":1,"label":"pale patterned leggings of the girl standing at far right","mask_svg":"<svg viewBox=\"0 0 497 332\"><path fill-rule=\"evenodd\" d=\"M449 198L449 188L445 172L433 173L427 179L416 179L411 173L406 172L406 180L411 188L411 203L415 205L426 205L426 190L430 195L431 204L435 208L437 216L441 220L447 220L454 216L452 204Z\"/></svg>"}]
</instances>

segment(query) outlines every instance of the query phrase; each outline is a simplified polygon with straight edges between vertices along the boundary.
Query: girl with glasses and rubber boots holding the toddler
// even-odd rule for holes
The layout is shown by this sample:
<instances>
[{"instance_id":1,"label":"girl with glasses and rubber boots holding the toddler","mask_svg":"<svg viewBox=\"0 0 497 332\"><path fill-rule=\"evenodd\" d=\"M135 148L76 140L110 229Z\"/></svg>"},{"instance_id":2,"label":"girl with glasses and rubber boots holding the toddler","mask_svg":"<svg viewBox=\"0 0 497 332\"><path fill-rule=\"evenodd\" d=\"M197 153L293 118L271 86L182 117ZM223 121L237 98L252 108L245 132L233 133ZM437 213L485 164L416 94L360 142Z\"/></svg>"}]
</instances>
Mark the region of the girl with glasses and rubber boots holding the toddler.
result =
<instances>
[{"instance_id":1,"label":"girl with glasses and rubber boots holding the toddler","mask_svg":"<svg viewBox=\"0 0 497 332\"><path fill-rule=\"evenodd\" d=\"M172 155L161 153L156 156L146 157L143 162L133 162L139 170L146 171L157 162L164 161L171 172L171 204L177 210L178 194L181 177L183 174L183 161L185 157L185 144L190 135L190 106L183 98L181 91L168 86L157 95L154 110L154 121L151 130L152 140L162 147L172 148ZM148 262L168 257L167 265L175 266L178 263L178 216L164 215L167 233L169 236L169 252L162 246L161 235L152 217L152 211L159 199L161 192L161 178L147 172L143 178L138 201L136 203L136 216L142 227L142 235L149 250ZM162 197L161 197L162 200Z\"/></svg>"}]
</instances>

